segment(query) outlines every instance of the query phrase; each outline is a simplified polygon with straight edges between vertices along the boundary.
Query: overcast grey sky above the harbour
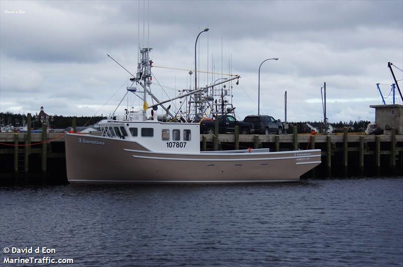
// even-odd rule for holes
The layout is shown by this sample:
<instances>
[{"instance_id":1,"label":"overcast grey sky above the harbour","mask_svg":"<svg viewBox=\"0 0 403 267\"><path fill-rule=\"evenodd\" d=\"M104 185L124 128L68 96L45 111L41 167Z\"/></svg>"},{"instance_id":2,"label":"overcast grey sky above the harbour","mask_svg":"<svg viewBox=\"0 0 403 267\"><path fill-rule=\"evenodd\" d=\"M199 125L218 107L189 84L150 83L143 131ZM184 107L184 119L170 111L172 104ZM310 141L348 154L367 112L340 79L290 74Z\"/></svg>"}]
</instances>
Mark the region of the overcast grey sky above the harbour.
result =
<instances>
[{"instance_id":1,"label":"overcast grey sky above the harbour","mask_svg":"<svg viewBox=\"0 0 403 267\"><path fill-rule=\"evenodd\" d=\"M1 112L35 114L43 106L52 115L94 115L121 87L98 112L109 114L125 94L128 73L106 54L136 72L140 43L154 49L156 66L190 70L196 36L206 27L210 31L198 41L198 69L211 72L213 61L215 72L231 67L241 76L233 84L238 119L257 114L258 68L267 58L279 60L261 66L260 113L284 120L287 91L288 121L322 120L323 82L330 122L374 121L369 105L381 104L376 83L385 84L385 96L391 88L387 62L403 69L401 0L1 0L0 6ZM171 97L175 88L194 84L185 70L155 67L153 73ZM212 82L211 74L198 78L200 85ZM153 81L153 93L167 99Z\"/></svg>"}]
</instances>

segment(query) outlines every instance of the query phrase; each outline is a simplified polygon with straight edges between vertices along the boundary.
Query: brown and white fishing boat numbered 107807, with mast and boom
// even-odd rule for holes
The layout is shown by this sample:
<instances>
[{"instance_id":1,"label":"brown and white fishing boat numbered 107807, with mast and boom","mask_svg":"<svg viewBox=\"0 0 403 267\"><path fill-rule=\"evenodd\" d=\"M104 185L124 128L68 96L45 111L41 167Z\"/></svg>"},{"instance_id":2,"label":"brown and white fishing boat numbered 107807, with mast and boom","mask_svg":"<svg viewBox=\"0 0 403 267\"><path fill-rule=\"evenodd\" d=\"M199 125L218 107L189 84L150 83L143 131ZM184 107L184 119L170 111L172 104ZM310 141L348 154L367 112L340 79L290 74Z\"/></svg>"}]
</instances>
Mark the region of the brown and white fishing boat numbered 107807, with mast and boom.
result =
<instances>
[{"instance_id":1,"label":"brown and white fishing boat numbered 107807, with mast and boom","mask_svg":"<svg viewBox=\"0 0 403 267\"><path fill-rule=\"evenodd\" d=\"M320 164L320 150L270 152L269 149L200 151L198 122L173 118L172 101L159 101L151 94L151 48L140 50L138 72L130 79L127 94L144 101L143 110L125 110L101 121L101 136L66 133L68 180L72 184L195 184L266 183L299 181L300 175ZM199 94L238 75L188 92ZM138 91L137 86L140 90ZM141 94L141 95L139 95ZM125 95L125 96L126 96ZM150 95L156 104L148 106ZM156 115L158 107L171 119ZM117 108L116 108L117 110ZM151 116L148 110L151 110Z\"/></svg>"}]
</instances>

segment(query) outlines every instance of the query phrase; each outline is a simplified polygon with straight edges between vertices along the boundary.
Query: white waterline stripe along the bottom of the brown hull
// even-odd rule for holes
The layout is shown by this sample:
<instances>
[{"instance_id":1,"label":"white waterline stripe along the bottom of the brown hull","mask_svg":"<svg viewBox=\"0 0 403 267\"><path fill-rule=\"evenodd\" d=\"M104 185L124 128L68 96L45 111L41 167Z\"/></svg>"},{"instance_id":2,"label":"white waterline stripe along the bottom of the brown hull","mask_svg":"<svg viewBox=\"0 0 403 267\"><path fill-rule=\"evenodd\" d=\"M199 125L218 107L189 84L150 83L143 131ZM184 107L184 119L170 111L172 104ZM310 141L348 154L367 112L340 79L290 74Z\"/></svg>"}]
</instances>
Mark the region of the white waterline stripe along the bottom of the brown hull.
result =
<instances>
[{"instance_id":1,"label":"white waterline stripe along the bottom of the brown hull","mask_svg":"<svg viewBox=\"0 0 403 267\"><path fill-rule=\"evenodd\" d=\"M214 184L214 183L278 183L278 182L298 182L299 178L296 180L205 180L205 181L153 181L153 180L71 180L69 182L79 182L79 183L160 183L160 184Z\"/></svg>"}]
</instances>

